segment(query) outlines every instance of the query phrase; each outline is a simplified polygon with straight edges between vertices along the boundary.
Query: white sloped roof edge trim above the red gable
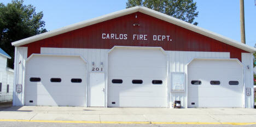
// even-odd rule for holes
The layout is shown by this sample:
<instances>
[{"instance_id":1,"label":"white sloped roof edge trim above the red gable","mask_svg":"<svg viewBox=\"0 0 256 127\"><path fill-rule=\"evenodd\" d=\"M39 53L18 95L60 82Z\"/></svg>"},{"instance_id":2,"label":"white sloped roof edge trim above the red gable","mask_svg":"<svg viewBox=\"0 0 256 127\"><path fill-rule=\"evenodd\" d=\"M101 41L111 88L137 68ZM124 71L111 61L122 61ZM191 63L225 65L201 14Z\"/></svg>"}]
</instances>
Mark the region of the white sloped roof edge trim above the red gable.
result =
<instances>
[{"instance_id":1,"label":"white sloped roof edge trim above the red gable","mask_svg":"<svg viewBox=\"0 0 256 127\"><path fill-rule=\"evenodd\" d=\"M66 27L55 29L53 31L45 32L45 33L42 33L42 34L34 35L33 37L30 37L30 38L15 41L15 42L11 43L11 45L13 45L13 46L25 45L25 44L28 44L28 43L32 43L34 41L42 40L42 39L45 39L45 38L50 38L50 37L53 37L55 35L66 33L66 32L69 32L69 31L73 31L75 29L83 28L83 27L86 27L86 26L94 25L96 23L100 23L100 22L103 22L103 21L114 19L116 17L124 16L124 15L131 14L131 13L135 13L137 11L139 11L141 13L144 13L144 14L147 14L147 15L150 15L150 16L153 16L153 17L156 17L160 20L164 20L166 22L170 22L174 25L183 27L185 29L189 29L190 31L205 35L206 37L216 39L218 41L221 41L222 43L225 43L225 44L228 44L228 45L231 45L231 46L235 46L238 49L242 49L242 50L245 50L245 51L248 51L248 52L256 52L256 49L254 47L251 47L251 46L248 46L246 44L240 43L240 42L238 42L236 40L233 40L233 39L230 39L228 37L224 37L223 35L214 33L212 31L208 31L207 29L203 29L199 26L192 25L191 23L176 19L172 16L160 13L160 12L155 11L153 9L149 9L149 8L141 7L141 6L115 11L114 13L110 13L110 14L106 14L106 15L103 15L103 16L95 17L94 19L74 23L73 25L69 25L69 26L66 26Z\"/></svg>"}]
</instances>

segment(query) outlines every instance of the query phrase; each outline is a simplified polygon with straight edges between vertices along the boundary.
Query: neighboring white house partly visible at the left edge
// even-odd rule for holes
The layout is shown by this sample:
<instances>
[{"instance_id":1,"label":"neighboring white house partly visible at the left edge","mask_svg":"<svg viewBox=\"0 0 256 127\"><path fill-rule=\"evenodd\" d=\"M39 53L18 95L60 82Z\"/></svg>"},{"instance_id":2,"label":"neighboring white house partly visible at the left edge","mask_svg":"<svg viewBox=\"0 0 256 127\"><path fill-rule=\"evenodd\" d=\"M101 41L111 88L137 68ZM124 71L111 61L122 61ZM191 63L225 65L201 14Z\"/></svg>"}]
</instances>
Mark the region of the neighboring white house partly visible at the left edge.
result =
<instances>
[{"instance_id":1,"label":"neighboring white house partly visible at the left edge","mask_svg":"<svg viewBox=\"0 0 256 127\"><path fill-rule=\"evenodd\" d=\"M0 102L13 100L13 69L7 67L11 57L0 48Z\"/></svg>"}]
</instances>

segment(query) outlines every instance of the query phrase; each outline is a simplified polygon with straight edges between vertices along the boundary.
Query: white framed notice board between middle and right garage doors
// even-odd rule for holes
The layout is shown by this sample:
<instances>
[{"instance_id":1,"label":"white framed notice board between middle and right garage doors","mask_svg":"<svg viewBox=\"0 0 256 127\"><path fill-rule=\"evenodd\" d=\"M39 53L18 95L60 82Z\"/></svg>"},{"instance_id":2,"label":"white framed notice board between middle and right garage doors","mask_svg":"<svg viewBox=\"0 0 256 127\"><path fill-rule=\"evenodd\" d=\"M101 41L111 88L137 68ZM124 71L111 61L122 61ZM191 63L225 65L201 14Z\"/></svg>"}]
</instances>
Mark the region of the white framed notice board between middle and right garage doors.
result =
<instances>
[{"instance_id":1,"label":"white framed notice board between middle and right garage doors","mask_svg":"<svg viewBox=\"0 0 256 127\"><path fill-rule=\"evenodd\" d=\"M184 72L172 72L171 74L171 91L183 92L185 87Z\"/></svg>"}]
</instances>

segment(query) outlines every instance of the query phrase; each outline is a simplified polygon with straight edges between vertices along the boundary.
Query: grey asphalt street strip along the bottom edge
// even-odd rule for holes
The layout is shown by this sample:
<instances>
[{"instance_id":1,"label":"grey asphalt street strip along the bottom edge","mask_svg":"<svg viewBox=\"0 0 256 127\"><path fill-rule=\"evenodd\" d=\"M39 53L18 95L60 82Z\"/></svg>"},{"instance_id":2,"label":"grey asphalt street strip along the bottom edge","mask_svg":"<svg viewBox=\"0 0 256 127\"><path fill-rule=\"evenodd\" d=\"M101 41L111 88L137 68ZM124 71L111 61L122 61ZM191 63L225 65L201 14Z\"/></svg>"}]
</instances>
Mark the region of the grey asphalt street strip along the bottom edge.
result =
<instances>
[{"instance_id":1,"label":"grey asphalt street strip along the bottom edge","mask_svg":"<svg viewBox=\"0 0 256 127\"><path fill-rule=\"evenodd\" d=\"M39 123L39 122L0 122L0 126L20 126L20 127L30 127L30 126L68 126L68 127L77 127L77 126L95 126L95 127L133 127L133 126L139 126L139 127L167 127L167 126L173 126L173 127L252 127L256 125L193 125L193 124L77 124L77 123Z\"/></svg>"}]
</instances>

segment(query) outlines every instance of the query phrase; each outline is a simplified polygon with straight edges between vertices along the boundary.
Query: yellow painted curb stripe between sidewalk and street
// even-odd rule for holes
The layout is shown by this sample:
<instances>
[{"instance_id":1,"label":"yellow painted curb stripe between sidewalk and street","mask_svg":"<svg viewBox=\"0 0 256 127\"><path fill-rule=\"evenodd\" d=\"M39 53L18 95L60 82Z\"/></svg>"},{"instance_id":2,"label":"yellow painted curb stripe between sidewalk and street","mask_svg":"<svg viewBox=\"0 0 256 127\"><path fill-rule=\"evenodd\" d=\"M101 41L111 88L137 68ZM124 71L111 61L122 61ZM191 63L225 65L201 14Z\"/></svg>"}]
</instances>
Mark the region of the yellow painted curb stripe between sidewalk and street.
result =
<instances>
[{"instance_id":1,"label":"yellow painted curb stripe between sidewalk and street","mask_svg":"<svg viewBox=\"0 0 256 127\"><path fill-rule=\"evenodd\" d=\"M211 122L100 122L100 121L66 121L66 120L23 120L23 119L0 119L0 122L44 122L44 123L91 123L91 124L230 124L230 125L252 125L254 123L211 123Z\"/></svg>"}]
</instances>

